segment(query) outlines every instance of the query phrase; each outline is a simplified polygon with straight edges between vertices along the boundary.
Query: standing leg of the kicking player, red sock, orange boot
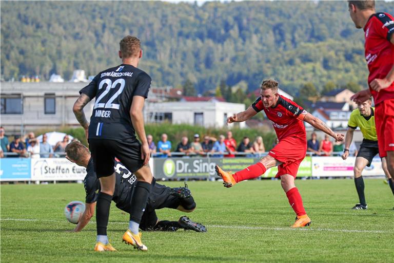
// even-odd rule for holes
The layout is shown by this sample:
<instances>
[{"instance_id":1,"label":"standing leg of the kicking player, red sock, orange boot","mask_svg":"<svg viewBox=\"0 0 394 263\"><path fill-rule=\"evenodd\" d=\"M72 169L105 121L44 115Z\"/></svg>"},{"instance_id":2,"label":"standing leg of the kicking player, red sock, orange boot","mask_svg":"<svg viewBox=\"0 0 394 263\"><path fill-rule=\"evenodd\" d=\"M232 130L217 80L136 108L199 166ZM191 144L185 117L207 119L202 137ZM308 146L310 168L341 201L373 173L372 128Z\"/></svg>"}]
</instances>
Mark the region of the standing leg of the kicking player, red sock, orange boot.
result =
<instances>
[{"instance_id":1,"label":"standing leg of the kicking player, red sock, orange boot","mask_svg":"<svg viewBox=\"0 0 394 263\"><path fill-rule=\"evenodd\" d=\"M301 195L298 192L297 187L295 187L294 180L295 179L292 175L281 176L282 188L286 193L291 208L294 210L295 214L297 214L297 217L295 217L295 223L291 227L307 227L310 225L311 220L305 212Z\"/></svg>"}]
</instances>

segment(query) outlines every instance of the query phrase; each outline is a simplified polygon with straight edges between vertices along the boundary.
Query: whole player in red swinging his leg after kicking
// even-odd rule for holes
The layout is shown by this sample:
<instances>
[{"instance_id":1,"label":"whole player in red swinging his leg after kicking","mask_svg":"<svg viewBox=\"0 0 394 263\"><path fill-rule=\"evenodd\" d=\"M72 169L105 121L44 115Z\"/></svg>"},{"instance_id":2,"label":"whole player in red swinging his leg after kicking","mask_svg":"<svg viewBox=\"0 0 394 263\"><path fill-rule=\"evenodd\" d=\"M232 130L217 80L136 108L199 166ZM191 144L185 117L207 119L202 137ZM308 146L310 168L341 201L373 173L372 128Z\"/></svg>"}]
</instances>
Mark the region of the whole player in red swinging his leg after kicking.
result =
<instances>
[{"instance_id":1,"label":"whole player in red swinging his leg after kicking","mask_svg":"<svg viewBox=\"0 0 394 263\"><path fill-rule=\"evenodd\" d=\"M272 122L279 143L260 162L242 171L231 175L216 165L216 173L223 178L225 187L231 187L240 181L257 178L268 168L278 166L278 174L275 177L281 178L282 188L291 208L297 214L292 228L309 226L311 220L305 212L301 195L294 184L298 167L306 156L307 141L303 121L338 141L342 141L344 136L332 132L322 120L310 115L297 103L279 95L278 82L272 79L263 81L260 96L248 109L227 118L227 123L246 121L264 110L267 118Z\"/></svg>"}]
</instances>

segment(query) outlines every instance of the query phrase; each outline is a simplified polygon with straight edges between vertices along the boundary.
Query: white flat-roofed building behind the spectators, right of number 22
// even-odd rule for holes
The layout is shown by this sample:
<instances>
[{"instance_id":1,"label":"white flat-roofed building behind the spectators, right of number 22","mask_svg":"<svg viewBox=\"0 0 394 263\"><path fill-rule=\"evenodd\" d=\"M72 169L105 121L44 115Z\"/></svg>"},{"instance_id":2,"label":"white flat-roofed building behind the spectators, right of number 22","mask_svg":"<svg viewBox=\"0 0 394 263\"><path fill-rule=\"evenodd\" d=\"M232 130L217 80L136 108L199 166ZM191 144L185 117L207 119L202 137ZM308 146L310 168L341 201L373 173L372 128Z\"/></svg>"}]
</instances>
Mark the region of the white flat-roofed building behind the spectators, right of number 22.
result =
<instances>
[{"instance_id":1,"label":"white flat-roofed building behind the spectators, right of number 22","mask_svg":"<svg viewBox=\"0 0 394 263\"><path fill-rule=\"evenodd\" d=\"M147 103L145 107L146 122L185 123L204 127L223 127L227 117L245 110L241 103L210 101L177 101ZM245 122L229 124L229 127L245 127Z\"/></svg>"}]
</instances>

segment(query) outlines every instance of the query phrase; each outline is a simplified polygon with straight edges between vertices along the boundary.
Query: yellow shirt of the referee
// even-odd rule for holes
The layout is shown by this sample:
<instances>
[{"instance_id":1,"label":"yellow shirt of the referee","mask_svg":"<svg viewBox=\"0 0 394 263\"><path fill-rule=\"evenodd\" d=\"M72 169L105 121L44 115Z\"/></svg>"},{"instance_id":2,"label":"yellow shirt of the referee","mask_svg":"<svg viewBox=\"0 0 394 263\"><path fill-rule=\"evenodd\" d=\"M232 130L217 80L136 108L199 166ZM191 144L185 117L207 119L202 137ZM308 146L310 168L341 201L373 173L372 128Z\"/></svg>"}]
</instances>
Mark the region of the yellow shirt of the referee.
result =
<instances>
[{"instance_id":1,"label":"yellow shirt of the referee","mask_svg":"<svg viewBox=\"0 0 394 263\"><path fill-rule=\"evenodd\" d=\"M369 117L362 116L359 109L353 110L347 125L353 129L360 127L364 139L371 141L378 140L375 126L375 107L371 107L371 115Z\"/></svg>"}]
</instances>

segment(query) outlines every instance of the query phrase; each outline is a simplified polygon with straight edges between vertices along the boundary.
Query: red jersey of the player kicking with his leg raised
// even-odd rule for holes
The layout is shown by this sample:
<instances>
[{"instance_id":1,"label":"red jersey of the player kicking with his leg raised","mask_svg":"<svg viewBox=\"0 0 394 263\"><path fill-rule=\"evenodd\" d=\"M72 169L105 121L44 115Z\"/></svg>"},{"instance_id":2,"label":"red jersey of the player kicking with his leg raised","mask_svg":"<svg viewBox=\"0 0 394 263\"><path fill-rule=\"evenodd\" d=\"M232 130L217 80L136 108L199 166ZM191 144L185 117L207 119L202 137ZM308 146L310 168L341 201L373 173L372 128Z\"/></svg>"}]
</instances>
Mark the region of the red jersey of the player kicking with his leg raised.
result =
<instances>
[{"instance_id":1,"label":"red jersey of the player kicking with his leg raised","mask_svg":"<svg viewBox=\"0 0 394 263\"><path fill-rule=\"evenodd\" d=\"M279 141L287 137L293 137L306 144L304 120L307 112L300 105L279 95L277 105L266 108L258 98L252 107L255 111L264 110L267 118L271 121Z\"/></svg>"}]
</instances>

